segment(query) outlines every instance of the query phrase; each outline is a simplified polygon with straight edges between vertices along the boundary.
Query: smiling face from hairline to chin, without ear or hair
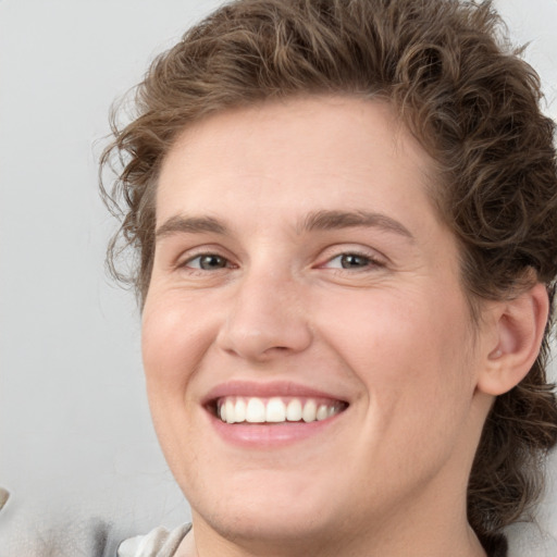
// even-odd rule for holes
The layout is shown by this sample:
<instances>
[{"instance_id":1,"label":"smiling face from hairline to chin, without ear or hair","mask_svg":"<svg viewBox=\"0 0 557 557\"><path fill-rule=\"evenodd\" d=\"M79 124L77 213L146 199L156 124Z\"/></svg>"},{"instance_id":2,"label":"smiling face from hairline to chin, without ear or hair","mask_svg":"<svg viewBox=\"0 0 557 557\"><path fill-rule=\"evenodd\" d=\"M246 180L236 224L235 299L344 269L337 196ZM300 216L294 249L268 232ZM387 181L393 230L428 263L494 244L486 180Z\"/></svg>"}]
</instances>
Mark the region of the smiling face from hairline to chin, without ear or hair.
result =
<instances>
[{"instance_id":1,"label":"smiling face from hairline to chin, without ear or hair","mask_svg":"<svg viewBox=\"0 0 557 557\"><path fill-rule=\"evenodd\" d=\"M224 112L168 154L143 349L199 529L299 542L462 510L480 334L430 168L355 98Z\"/></svg>"}]
</instances>

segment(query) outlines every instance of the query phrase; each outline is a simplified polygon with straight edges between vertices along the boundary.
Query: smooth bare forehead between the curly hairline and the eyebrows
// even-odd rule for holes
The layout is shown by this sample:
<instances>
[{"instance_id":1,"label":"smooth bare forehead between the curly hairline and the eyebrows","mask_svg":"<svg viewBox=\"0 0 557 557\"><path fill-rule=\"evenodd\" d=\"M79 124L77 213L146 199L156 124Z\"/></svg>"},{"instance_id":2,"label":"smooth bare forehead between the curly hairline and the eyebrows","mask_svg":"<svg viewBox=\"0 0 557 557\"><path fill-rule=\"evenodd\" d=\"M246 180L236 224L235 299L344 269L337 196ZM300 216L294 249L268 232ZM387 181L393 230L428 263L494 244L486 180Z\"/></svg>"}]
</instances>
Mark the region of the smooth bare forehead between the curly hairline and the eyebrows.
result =
<instances>
[{"instance_id":1,"label":"smooth bare forehead between the curly hairline and the eyebrows","mask_svg":"<svg viewBox=\"0 0 557 557\"><path fill-rule=\"evenodd\" d=\"M432 160L384 101L268 101L216 113L182 133L161 169L157 216L169 219L180 205L207 212L208 203L236 208L256 200L275 210L370 202L403 209L417 190L426 195L432 175Z\"/></svg>"}]
</instances>

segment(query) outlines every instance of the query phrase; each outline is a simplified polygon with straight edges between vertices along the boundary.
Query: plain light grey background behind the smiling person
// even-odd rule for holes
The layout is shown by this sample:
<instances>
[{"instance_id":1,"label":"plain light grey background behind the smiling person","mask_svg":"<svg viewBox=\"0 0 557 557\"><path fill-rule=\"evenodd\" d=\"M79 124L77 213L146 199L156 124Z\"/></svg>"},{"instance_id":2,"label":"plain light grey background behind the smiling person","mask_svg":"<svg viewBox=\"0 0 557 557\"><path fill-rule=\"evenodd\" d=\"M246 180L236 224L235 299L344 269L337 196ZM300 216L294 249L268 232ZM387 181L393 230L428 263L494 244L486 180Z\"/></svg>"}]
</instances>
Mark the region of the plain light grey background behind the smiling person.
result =
<instances>
[{"instance_id":1,"label":"plain light grey background behind the smiling person","mask_svg":"<svg viewBox=\"0 0 557 557\"><path fill-rule=\"evenodd\" d=\"M96 158L112 100L219 3L0 1L0 557L92 517L122 534L188 519L150 424L135 301L103 270ZM557 0L498 5L556 117ZM555 488L541 523L557 536Z\"/></svg>"}]
</instances>

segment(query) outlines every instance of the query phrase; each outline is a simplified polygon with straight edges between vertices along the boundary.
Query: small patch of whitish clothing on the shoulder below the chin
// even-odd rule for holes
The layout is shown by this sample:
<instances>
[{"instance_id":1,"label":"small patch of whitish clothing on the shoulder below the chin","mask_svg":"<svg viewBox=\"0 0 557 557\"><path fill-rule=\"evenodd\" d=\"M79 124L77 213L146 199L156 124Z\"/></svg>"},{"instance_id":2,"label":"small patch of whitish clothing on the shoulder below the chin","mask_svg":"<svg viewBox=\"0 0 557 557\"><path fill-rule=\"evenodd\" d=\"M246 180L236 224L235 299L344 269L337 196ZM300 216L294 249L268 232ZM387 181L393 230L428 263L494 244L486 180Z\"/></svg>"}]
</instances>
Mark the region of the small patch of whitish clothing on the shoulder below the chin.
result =
<instances>
[{"instance_id":1,"label":"small patch of whitish clothing on the shoulder below the chin","mask_svg":"<svg viewBox=\"0 0 557 557\"><path fill-rule=\"evenodd\" d=\"M120 544L117 557L172 557L190 529L191 524L173 530L159 527L146 535L129 537Z\"/></svg>"}]
</instances>

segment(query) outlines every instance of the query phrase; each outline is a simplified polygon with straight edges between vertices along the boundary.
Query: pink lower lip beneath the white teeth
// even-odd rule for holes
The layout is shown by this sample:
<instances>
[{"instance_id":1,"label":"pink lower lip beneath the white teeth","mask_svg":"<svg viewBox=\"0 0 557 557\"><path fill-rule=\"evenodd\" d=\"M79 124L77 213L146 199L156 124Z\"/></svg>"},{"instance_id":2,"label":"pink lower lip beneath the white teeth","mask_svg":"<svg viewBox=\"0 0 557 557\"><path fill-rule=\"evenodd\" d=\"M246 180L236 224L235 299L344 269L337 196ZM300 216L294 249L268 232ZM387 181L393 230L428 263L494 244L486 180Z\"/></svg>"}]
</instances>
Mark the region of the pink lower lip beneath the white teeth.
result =
<instances>
[{"instance_id":1,"label":"pink lower lip beneath the white teeth","mask_svg":"<svg viewBox=\"0 0 557 557\"><path fill-rule=\"evenodd\" d=\"M227 443L249 448L277 448L308 440L336 423L346 410L314 422L226 423L209 414L216 433Z\"/></svg>"}]
</instances>

